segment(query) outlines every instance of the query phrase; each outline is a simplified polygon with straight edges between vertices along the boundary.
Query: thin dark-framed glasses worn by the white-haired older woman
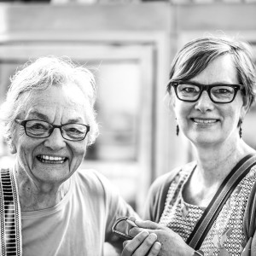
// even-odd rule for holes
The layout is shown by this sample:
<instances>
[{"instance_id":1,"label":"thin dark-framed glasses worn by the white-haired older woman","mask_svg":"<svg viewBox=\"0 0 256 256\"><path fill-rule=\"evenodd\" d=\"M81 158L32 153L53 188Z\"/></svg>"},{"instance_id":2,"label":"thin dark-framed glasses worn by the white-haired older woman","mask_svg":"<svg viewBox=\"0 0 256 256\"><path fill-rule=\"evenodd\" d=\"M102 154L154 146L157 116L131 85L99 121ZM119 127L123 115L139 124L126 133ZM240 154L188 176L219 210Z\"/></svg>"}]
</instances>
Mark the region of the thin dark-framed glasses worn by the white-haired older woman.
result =
<instances>
[{"instance_id":1,"label":"thin dark-framed glasses worn by the white-haired older woman","mask_svg":"<svg viewBox=\"0 0 256 256\"><path fill-rule=\"evenodd\" d=\"M89 125L70 123L65 125L52 125L42 120L20 120L15 119L15 122L22 125L26 135L29 137L45 138L49 137L55 128L59 128L61 136L68 141L82 141L90 131Z\"/></svg>"}]
</instances>

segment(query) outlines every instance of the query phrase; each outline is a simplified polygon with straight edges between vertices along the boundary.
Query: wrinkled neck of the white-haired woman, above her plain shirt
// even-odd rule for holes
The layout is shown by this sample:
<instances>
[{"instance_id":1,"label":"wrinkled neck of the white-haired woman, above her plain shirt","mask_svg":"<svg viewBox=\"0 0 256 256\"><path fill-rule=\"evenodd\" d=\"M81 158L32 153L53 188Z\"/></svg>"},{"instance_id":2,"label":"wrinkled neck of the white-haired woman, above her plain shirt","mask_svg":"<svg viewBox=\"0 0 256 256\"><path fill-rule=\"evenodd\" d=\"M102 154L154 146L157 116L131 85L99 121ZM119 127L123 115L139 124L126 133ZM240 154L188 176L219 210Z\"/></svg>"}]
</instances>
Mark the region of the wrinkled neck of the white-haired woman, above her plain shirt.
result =
<instances>
[{"instance_id":1,"label":"wrinkled neck of the white-haired woman, above her plain shirt","mask_svg":"<svg viewBox=\"0 0 256 256\"><path fill-rule=\"evenodd\" d=\"M55 207L67 194L69 180L44 183L33 180L21 168L15 168L21 211L37 211Z\"/></svg>"}]
</instances>

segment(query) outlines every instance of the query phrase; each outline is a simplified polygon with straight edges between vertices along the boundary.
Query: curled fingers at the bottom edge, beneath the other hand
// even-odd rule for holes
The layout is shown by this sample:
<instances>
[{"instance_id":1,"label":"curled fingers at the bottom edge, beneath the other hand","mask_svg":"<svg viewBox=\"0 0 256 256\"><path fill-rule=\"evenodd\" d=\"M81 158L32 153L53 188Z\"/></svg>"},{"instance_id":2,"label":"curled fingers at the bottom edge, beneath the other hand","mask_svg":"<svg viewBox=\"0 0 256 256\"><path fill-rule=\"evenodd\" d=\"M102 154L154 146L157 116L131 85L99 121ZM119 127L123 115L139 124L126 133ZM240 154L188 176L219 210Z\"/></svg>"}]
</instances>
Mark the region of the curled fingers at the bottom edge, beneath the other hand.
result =
<instances>
[{"instance_id":1,"label":"curled fingers at the bottom edge, beneath the other hand","mask_svg":"<svg viewBox=\"0 0 256 256\"><path fill-rule=\"evenodd\" d=\"M122 256L157 255L160 251L160 243L155 242L156 240L157 236L154 233L148 234L147 231L143 231L135 236L131 241L124 242Z\"/></svg>"}]
</instances>

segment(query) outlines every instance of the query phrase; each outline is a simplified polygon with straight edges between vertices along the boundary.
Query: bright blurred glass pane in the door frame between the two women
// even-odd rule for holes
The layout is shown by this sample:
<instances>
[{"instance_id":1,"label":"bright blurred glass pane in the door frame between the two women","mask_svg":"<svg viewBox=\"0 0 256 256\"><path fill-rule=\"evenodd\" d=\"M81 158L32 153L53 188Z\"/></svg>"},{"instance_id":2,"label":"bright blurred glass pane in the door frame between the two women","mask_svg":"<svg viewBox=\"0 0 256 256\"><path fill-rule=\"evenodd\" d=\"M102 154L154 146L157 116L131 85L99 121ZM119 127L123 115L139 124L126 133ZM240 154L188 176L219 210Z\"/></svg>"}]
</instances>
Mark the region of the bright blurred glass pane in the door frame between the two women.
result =
<instances>
[{"instance_id":1,"label":"bright blurred glass pane in the door frame between the two women","mask_svg":"<svg viewBox=\"0 0 256 256\"><path fill-rule=\"evenodd\" d=\"M91 160L136 160L140 114L140 68L134 62L108 62L96 72L96 111L100 136L87 151Z\"/></svg>"}]
</instances>

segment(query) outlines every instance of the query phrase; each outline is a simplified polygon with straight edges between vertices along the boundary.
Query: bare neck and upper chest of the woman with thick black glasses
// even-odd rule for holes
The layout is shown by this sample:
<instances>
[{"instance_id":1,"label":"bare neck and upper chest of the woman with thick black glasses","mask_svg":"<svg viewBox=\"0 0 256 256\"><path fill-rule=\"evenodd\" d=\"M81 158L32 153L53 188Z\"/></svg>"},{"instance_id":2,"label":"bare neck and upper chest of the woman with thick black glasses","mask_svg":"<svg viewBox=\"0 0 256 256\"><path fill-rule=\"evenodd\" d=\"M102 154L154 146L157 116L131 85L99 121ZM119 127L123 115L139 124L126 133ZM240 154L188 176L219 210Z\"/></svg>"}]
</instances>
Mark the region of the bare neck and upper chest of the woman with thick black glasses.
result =
<instances>
[{"instance_id":1,"label":"bare neck and upper chest of the woman with thick black glasses","mask_svg":"<svg viewBox=\"0 0 256 256\"><path fill-rule=\"evenodd\" d=\"M207 207L224 178L239 160L250 153L255 153L255 150L242 140L233 144L224 142L219 147L197 147L197 166L184 186L184 200L197 206Z\"/></svg>"}]
</instances>

